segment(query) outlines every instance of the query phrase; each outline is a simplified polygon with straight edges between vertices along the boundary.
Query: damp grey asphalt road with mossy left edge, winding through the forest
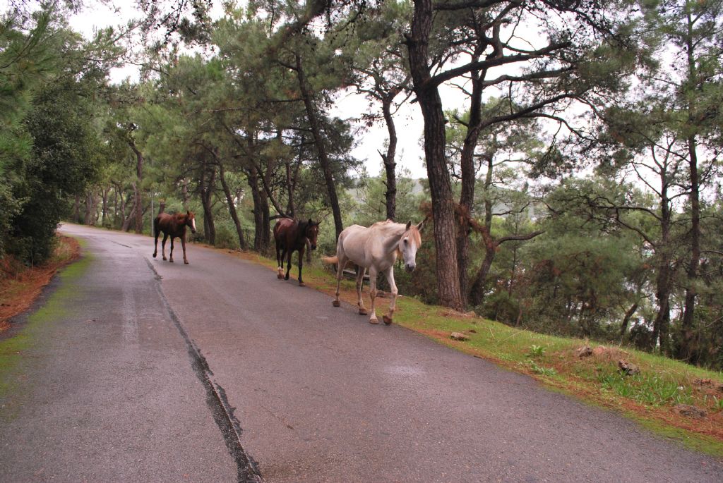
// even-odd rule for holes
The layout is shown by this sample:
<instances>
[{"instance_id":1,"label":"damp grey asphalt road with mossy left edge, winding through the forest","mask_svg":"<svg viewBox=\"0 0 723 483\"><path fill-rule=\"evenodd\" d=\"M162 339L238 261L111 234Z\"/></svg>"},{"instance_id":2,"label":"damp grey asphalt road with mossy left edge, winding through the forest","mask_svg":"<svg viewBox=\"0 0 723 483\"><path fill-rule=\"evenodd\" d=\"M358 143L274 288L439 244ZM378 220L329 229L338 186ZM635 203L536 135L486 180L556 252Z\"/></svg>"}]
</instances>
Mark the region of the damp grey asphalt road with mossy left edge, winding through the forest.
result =
<instances>
[{"instance_id":1,"label":"damp grey asphalt road with mossy left edge, winding through the forest","mask_svg":"<svg viewBox=\"0 0 723 483\"><path fill-rule=\"evenodd\" d=\"M722 461L223 251L169 264L148 237L61 231L86 266L9 334L33 344L0 381L2 482L723 482Z\"/></svg>"}]
</instances>

